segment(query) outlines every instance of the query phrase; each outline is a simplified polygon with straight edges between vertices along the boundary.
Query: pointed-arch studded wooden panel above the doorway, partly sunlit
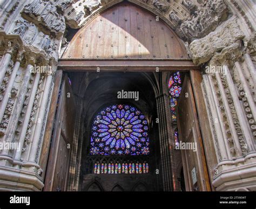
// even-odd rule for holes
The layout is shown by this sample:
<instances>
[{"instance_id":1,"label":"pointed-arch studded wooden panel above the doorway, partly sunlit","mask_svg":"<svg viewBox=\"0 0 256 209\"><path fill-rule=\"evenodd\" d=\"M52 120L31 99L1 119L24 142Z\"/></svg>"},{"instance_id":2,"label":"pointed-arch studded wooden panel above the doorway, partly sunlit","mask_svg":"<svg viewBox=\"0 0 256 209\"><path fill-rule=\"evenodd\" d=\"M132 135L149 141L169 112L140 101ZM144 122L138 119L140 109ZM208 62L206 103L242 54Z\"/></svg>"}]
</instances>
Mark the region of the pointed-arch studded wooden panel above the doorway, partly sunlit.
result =
<instances>
[{"instance_id":1,"label":"pointed-arch studded wooden panel above the doorway, partly sunlit","mask_svg":"<svg viewBox=\"0 0 256 209\"><path fill-rule=\"evenodd\" d=\"M187 58L182 41L149 11L123 2L92 19L62 58Z\"/></svg>"}]
</instances>

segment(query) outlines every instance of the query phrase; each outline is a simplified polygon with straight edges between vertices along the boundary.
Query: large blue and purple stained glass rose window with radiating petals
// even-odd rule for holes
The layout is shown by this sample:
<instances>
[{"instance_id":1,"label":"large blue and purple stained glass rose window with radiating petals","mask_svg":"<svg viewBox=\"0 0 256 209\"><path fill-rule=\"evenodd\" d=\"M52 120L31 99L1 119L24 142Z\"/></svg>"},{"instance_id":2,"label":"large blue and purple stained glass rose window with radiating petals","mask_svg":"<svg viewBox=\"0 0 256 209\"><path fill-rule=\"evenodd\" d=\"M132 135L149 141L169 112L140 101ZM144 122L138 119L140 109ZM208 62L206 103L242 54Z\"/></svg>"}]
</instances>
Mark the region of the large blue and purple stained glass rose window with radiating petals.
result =
<instances>
[{"instance_id":1,"label":"large blue and purple stained glass rose window with radiating petals","mask_svg":"<svg viewBox=\"0 0 256 209\"><path fill-rule=\"evenodd\" d=\"M106 107L93 120L90 155L149 155L148 130L146 117L137 108Z\"/></svg>"}]
</instances>

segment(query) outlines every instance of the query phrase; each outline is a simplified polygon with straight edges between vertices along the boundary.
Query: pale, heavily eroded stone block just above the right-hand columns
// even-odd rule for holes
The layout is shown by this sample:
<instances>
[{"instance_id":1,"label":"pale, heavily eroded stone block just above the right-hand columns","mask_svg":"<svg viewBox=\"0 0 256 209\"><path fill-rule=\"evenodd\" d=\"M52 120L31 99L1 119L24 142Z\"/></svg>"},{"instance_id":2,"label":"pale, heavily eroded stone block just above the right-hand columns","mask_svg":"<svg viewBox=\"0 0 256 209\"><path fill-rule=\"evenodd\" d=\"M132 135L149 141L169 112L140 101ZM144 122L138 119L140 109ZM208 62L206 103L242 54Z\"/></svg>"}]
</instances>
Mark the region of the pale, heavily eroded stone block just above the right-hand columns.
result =
<instances>
[{"instance_id":1,"label":"pale, heavily eroded stone block just above the right-hand columns","mask_svg":"<svg viewBox=\"0 0 256 209\"><path fill-rule=\"evenodd\" d=\"M244 33L237 24L237 18L230 18L214 32L204 38L192 41L190 51L193 61L195 64L207 62L216 52L221 52L223 48L244 37Z\"/></svg>"}]
</instances>

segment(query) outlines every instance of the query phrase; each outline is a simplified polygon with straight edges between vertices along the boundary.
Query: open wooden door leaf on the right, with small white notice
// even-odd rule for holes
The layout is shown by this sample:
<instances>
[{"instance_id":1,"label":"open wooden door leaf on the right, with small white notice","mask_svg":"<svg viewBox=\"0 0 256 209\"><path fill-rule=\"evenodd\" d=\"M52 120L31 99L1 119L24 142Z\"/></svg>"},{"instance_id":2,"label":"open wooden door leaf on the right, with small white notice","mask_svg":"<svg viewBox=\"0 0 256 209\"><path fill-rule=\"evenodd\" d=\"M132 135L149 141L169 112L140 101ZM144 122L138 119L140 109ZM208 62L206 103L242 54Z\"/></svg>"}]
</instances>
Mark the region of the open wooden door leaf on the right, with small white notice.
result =
<instances>
[{"instance_id":1,"label":"open wooden door leaf on the right, with small white notice","mask_svg":"<svg viewBox=\"0 0 256 209\"><path fill-rule=\"evenodd\" d=\"M197 108L191 81L187 75L179 97L177 116L186 191L210 191Z\"/></svg>"}]
</instances>

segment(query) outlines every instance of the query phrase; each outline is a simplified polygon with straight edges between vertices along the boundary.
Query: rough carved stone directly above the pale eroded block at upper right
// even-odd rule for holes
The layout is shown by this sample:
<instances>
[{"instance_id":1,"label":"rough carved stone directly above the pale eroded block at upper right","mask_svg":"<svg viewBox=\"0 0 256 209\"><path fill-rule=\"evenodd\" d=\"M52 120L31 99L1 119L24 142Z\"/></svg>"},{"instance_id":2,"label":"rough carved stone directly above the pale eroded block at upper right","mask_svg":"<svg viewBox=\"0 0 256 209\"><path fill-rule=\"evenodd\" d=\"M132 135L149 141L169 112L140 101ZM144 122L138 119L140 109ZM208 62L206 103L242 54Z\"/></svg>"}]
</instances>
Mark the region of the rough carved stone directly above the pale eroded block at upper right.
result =
<instances>
[{"instance_id":1,"label":"rough carved stone directly above the pale eroded block at upper right","mask_svg":"<svg viewBox=\"0 0 256 209\"><path fill-rule=\"evenodd\" d=\"M214 31L227 15L227 5L223 0L205 1L180 25L180 36L184 36L187 40L204 37Z\"/></svg>"}]
</instances>

